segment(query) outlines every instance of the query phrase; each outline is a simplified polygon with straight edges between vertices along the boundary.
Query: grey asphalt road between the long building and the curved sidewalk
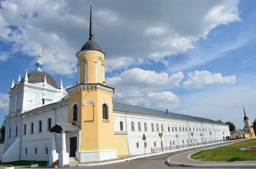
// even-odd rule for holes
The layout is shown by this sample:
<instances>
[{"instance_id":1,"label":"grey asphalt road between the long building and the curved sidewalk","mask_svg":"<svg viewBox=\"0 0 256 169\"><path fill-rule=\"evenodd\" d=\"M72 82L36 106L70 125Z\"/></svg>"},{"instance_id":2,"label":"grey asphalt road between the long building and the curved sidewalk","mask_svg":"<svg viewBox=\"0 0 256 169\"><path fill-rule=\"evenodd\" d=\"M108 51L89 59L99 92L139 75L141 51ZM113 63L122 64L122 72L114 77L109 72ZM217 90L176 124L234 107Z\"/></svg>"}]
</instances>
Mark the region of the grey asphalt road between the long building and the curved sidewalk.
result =
<instances>
[{"instance_id":1,"label":"grey asphalt road between the long building and the curved sidewalk","mask_svg":"<svg viewBox=\"0 0 256 169\"><path fill-rule=\"evenodd\" d=\"M225 145L225 144L230 144L230 142L220 143L220 145ZM167 159L172 157L173 155L177 155L183 152L188 152L188 151L197 150L197 149L203 150L202 148L209 149L215 146L218 146L218 144L195 147L192 149L180 150L177 152L170 152L170 153L155 155L155 156L146 157L146 158L138 158L138 159L124 161L120 163L113 163L113 164L107 164L102 166L79 166L78 168L79 169L80 168L81 169L195 169L195 168L187 168L187 167L169 166L167 164Z\"/></svg>"}]
</instances>

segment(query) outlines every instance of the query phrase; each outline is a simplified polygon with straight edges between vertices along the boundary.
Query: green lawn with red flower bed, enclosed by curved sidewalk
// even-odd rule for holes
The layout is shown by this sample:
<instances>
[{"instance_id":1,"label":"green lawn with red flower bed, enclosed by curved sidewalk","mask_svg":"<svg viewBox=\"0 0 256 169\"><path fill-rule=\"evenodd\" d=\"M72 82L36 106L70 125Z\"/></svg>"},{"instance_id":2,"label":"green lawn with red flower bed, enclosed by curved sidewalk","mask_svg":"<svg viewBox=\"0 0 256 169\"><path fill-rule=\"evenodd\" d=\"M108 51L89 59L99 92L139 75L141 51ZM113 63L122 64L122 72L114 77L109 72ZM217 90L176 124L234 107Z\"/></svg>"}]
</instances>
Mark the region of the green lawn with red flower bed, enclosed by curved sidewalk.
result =
<instances>
[{"instance_id":1,"label":"green lawn with red flower bed, enclosed by curved sidewalk","mask_svg":"<svg viewBox=\"0 0 256 169\"><path fill-rule=\"evenodd\" d=\"M235 143L229 146L222 146L215 149L208 149L190 155L193 160L210 161L247 161L256 160L256 151L238 151L243 147L256 146L256 139L246 140L241 143Z\"/></svg>"}]
</instances>

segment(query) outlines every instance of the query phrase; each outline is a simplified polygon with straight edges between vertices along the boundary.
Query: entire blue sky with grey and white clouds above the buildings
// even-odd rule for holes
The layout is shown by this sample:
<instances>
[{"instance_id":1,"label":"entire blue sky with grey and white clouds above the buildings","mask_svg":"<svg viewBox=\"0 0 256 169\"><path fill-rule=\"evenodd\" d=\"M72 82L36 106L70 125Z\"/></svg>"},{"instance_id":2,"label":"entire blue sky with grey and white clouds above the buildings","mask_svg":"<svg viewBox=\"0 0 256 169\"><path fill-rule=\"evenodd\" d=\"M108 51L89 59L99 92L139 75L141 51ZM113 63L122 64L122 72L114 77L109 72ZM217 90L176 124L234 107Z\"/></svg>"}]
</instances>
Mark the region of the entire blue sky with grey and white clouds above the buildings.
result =
<instances>
[{"instance_id":1,"label":"entire blue sky with grey and white clouds above the buildings","mask_svg":"<svg viewBox=\"0 0 256 169\"><path fill-rule=\"evenodd\" d=\"M0 1L0 121L12 79L43 71L76 84L89 36L89 0ZM113 101L232 121L256 109L256 1L96 0L94 40L106 54Z\"/></svg>"}]
</instances>

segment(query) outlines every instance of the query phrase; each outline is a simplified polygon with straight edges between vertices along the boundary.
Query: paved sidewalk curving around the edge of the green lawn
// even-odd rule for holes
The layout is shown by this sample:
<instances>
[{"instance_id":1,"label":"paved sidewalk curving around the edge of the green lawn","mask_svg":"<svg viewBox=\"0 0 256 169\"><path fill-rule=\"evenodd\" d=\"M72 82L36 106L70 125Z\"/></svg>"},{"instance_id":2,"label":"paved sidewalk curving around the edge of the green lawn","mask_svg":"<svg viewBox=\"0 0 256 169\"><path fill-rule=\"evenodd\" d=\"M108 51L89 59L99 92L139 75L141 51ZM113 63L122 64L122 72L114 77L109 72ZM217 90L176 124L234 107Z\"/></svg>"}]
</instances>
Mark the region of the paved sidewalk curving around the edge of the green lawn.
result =
<instances>
[{"instance_id":1,"label":"paved sidewalk curving around the edge of the green lawn","mask_svg":"<svg viewBox=\"0 0 256 169\"><path fill-rule=\"evenodd\" d=\"M226 145L225 145L226 146ZM219 147L219 146L216 146ZM167 162L171 166L180 167L198 167L198 168L256 168L256 161L204 161L204 160L192 160L189 155L208 148L201 148L184 152L178 155L170 157Z\"/></svg>"}]
</instances>

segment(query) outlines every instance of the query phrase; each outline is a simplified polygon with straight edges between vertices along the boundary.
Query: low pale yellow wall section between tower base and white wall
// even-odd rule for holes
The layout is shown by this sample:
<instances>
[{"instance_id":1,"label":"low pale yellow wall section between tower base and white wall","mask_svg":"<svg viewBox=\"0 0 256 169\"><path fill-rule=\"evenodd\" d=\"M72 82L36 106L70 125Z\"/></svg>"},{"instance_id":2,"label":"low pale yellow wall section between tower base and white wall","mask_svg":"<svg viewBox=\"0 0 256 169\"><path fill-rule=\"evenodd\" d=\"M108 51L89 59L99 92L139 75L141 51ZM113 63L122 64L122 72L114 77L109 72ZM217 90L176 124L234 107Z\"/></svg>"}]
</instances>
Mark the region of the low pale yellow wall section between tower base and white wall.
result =
<instances>
[{"instance_id":1,"label":"low pale yellow wall section between tower base and white wall","mask_svg":"<svg viewBox=\"0 0 256 169\"><path fill-rule=\"evenodd\" d=\"M128 155L127 135L115 135L114 149L117 156Z\"/></svg>"}]
</instances>

